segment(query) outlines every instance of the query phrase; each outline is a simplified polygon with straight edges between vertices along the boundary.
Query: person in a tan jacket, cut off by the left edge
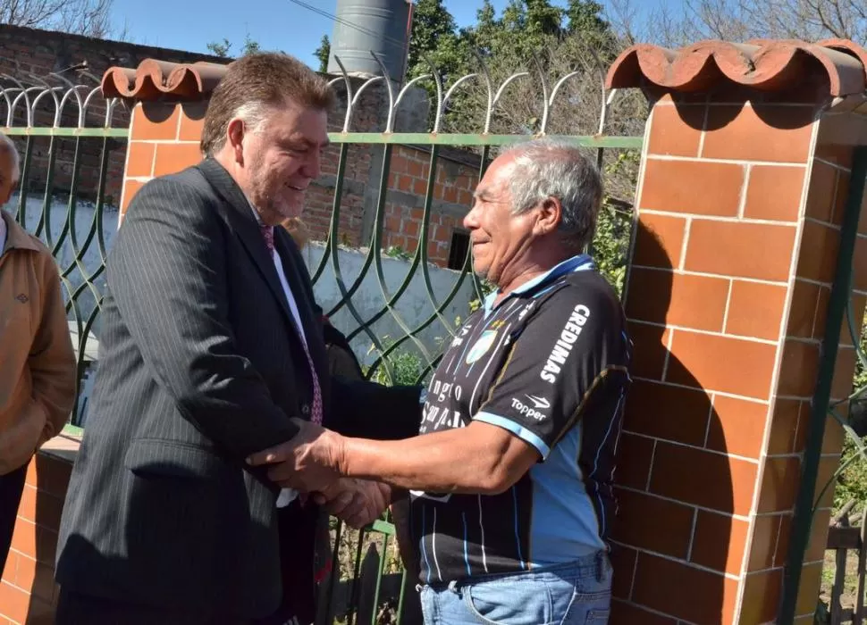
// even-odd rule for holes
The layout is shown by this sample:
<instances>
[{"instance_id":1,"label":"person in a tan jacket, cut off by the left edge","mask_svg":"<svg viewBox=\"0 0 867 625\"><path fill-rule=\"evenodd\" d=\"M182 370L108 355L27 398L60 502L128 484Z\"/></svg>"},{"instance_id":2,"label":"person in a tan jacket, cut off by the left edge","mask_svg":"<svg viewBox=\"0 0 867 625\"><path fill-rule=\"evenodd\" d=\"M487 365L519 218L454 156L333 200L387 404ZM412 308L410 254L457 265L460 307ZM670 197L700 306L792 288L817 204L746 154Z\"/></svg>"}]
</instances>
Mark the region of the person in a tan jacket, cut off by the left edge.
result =
<instances>
[{"instance_id":1,"label":"person in a tan jacket, cut off by the left edge","mask_svg":"<svg viewBox=\"0 0 867 625\"><path fill-rule=\"evenodd\" d=\"M20 176L0 134L0 206ZM75 399L75 354L55 259L0 210L0 571L12 542L27 466L60 433Z\"/></svg>"}]
</instances>

